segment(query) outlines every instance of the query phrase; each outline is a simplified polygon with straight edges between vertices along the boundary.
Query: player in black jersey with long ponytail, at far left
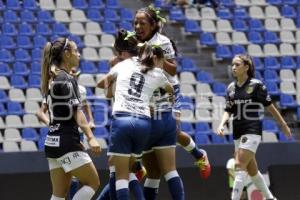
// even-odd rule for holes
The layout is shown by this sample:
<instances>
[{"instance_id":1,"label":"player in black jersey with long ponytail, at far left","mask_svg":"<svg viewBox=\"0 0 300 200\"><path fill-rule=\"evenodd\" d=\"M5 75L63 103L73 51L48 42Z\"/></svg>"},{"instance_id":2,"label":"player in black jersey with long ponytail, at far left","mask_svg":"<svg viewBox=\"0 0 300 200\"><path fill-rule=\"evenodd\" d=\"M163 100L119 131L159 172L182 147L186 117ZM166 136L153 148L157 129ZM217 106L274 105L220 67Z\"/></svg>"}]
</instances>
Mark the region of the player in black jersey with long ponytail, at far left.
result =
<instances>
[{"instance_id":1,"label":"player in black jersey with long ponytail, at far left","mask_svg":"<svg viewBox=\"0 0 300 200\"><path fill-rule=\"evenodd\" d=\"M79 64L80 54L73 41L58 38L48 42L43 51L42 93L49 111L49 132L45 153L52 182L51 200L66 198L72 176L84 185L73 200L91 199L100 185L97 170L80 144L78 126L88 138L95 154L101 148L80 109L78 86L69 74Z\"/></svg>"}]
</instances>

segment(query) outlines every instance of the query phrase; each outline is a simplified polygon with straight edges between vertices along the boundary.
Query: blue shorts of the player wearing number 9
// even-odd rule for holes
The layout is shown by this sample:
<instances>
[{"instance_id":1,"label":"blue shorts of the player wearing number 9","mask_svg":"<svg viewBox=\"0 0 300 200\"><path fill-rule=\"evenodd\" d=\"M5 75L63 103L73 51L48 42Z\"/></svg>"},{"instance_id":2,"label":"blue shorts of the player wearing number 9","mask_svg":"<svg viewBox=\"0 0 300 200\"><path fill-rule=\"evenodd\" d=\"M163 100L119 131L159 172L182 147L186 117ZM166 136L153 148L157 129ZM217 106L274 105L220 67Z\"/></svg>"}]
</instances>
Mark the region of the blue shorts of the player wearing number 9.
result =
<instances>
[{"instance_id":1,"label":"blue shorts of the player wearing number 9","mask_svg":"<svg viewBox=\"0 0 300 200\"><path fill-rule=\"evenodd\" d=\"M141 156L151 134L151 119L129 113L116 114L111 122L107 155Z\"/></svg>"}]
</instances>

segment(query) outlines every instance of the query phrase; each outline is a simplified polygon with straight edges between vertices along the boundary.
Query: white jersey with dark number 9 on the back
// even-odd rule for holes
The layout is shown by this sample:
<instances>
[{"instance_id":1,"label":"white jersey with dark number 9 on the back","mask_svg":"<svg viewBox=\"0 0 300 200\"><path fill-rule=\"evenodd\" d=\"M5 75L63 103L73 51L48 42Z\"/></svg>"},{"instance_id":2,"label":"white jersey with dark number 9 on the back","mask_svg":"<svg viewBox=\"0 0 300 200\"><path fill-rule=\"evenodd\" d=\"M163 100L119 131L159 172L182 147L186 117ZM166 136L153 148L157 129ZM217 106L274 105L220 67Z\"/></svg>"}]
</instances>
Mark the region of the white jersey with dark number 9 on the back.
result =
<instances>
[{"instance_id":1,"label":"white jersey with dark number 9 on the back","mask_svg":"<svg viewBox=\"0 0 300 200\"><path fill-rule=\"evenodd\" d=\"M114 66L109 74L116 77L115 102L112 113L129 112L150 117L150 98L156 88L169 83L163 70L154 68L146 74L136 57Z\"/></svg>"}]
</instances>

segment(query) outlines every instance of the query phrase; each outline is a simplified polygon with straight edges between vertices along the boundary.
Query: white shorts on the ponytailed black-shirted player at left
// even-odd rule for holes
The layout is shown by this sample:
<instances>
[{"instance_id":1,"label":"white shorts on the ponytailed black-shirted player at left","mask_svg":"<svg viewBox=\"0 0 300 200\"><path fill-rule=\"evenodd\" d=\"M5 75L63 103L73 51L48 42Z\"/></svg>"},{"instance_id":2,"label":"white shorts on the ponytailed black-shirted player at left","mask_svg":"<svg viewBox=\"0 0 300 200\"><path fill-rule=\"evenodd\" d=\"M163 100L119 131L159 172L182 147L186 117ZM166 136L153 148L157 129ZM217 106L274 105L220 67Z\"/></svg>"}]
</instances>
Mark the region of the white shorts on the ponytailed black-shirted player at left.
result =
<instances>
[{"instance_id":1,"label":"white shorts on the ponytailed black-shirted player at left","mask_svg":"<svg viewBox=\"0 0 300 200\"><path fill-rule=\"evenodd\" d=\"M89 154L83 151L73 151L59 158L48 158L49 169L63 168L66 173L92 162Z\"/></svg>"}]
</instances>

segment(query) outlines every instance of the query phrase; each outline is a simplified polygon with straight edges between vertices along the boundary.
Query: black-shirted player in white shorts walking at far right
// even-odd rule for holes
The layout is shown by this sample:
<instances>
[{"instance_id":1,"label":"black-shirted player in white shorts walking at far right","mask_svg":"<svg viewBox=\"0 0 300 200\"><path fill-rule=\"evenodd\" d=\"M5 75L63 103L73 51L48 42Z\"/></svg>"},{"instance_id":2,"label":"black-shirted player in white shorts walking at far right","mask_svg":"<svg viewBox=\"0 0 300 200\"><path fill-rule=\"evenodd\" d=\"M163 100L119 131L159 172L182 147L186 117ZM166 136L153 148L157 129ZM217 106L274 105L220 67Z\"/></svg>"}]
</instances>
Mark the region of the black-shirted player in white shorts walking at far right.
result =
<instances>
[{"instance_id":1,"label":"black-shirted player in white shorts walking at far right","mask_svg":"<svg viewBox=\"0 0 300 200\"><path fill-rule=\"evenodd\" d=\"M254 78L254 65L248 55L236 55L232 60L232 74L236 79L227 88L226 108L217 134L224 135L224 125L233 115L236 172L231 194L240 199L247 173L266 199L276 199L258 171L255 153L261 141L263 106L280 124L283 133L291 136L290 128L272 104L266 86Z\"/></svg>"}]
</instances>

